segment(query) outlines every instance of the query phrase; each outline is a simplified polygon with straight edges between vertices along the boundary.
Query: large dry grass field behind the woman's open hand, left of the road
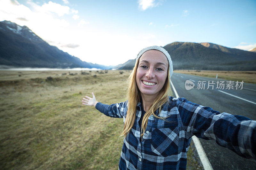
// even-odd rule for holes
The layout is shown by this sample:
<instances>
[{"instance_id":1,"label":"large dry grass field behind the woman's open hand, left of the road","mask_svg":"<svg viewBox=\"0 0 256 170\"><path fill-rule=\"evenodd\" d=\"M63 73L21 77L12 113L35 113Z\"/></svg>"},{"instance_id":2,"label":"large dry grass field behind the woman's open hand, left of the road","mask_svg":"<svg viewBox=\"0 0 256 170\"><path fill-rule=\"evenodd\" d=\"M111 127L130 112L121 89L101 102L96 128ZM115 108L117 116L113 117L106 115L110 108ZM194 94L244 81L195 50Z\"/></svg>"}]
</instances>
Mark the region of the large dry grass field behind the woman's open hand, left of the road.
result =
<instances>
[{"instance_id":1,"label":"large dry grass field behind the woman's open hand, left of the road","mask_svg":"<svg viewBox=\"0 0 256 170\"><path fill-rule=\"evenodd\" d=\"M81 100L124 101L129 72L119 71L0 71L0 169L118 169L123 119Z\"/></svg>"}]
</instances>

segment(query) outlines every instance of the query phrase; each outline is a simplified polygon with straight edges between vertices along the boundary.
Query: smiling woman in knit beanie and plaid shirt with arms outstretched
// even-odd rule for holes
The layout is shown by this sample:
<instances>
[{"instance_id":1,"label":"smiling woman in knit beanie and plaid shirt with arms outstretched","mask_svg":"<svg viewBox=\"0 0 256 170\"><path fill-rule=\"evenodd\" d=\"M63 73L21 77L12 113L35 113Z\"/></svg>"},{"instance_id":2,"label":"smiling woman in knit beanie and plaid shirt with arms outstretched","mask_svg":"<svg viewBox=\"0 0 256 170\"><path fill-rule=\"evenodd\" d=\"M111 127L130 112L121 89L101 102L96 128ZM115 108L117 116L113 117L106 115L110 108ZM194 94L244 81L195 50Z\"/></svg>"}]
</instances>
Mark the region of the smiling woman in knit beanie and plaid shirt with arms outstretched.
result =
<instances>
[{"instance_id":1,"label":"smiling woman in knit beanie and plaid shirt with arms outstretched","mask_svg":"<svg viewBox=\"0 0 256 170\"><path fill-rule=\"evenodd\" d=\"M172 60L164 48L144 48L129 77L127 101L105 105L93 93L92 98L83 98L84 105L124 118L119 169L186 169L193 135L255 159L256 121L169 97L172 72Z\"/></svg>"}]
</instances>

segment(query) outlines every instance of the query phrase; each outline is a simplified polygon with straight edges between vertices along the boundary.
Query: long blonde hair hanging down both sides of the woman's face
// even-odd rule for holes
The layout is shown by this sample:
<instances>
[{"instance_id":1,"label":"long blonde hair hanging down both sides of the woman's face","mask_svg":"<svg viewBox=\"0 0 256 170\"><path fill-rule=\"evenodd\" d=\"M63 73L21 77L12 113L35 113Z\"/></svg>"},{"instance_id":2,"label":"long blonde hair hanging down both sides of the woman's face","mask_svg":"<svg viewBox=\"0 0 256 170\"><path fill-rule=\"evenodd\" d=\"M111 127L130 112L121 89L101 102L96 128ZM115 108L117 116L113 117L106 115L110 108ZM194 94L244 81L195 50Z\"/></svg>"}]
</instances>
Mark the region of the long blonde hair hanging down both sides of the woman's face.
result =
<instances>
[{"instance_id":1,"label":"long blonde hair hanging down both sides of the woman's face","mask_svg":"<svg viewBox=\"0 0 256 170\"><path fill-rule=\"evenodd\" d=\"M132 126L135 121L136 117L136 107L138 102L140 101L140 90L136 83L136 72L139 65L139 60L137 60L135 67L133 68L129 78L127 79L128 88L126 93L126 98L128 100L128 110L126 114L126 118L124 121L124 130L121 136L126 137L126 135L132 129ZM171 85L170 85L170 67L168 67L168 76L165 80L163 88L160 90L159 94L157 95L156 99L154 100L153 104L149 107L148 111L145 113L142 123L141 123L141 137L143 136L145 129L148 125L148 118L150 115L154 115L156 118L165 119L165 117L159 117L154 112L159 108L159 113L161 112L161 107L164 103L169 102L169 95L171 95Z\"/></svg>"}]
</instances>

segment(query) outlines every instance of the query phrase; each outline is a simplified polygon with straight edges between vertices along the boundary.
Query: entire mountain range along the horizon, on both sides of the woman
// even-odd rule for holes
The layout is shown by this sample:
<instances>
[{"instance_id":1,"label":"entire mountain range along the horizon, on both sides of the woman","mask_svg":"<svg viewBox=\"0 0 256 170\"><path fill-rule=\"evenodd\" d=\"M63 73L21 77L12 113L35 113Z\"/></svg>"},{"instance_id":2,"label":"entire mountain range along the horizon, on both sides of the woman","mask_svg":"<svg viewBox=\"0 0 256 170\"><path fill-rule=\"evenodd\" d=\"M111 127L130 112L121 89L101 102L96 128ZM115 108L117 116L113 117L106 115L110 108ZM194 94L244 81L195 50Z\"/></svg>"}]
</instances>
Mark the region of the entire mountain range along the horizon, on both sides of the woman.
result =
<instances>
[{"instance_id":1,"label":"entire mountain range along the horizon, on both sides of the woman","mask_svg":"<svg viewBox=\"0 0 256 170\"><path fill-rule=\"evenodd\" d=\"M256 70L256 48L244 51L210 42L172 42L165 45L174 69L186 70ZM253 51L254 50L254 51ZM27 26L11 21L0 22L0 65L46 68L125 69L134 67L135 59L117 66L104 66L50 46Z\"/></svg>"}]
</instances>

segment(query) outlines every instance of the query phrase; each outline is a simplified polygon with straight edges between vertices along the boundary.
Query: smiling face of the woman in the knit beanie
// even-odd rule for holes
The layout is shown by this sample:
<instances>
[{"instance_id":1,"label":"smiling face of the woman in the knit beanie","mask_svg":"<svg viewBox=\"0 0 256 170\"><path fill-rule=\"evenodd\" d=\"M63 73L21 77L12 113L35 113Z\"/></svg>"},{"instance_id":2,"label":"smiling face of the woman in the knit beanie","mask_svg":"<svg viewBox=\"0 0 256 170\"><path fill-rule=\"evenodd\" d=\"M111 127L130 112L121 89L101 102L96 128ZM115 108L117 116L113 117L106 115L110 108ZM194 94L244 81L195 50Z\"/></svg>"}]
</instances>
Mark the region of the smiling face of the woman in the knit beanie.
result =
<instances>
[{"instance_id":1,"label":"smiling face of the woman in the knit beanie","mask_svg":"<svg viewBox=\"0 0 256 170\"><path fill-rule=\"evenodd\" d=\"M136 83L142 96L156 98L167 78L168 60L158 50L148 50L139 59Z\"/></svg>"}]
</instances>

